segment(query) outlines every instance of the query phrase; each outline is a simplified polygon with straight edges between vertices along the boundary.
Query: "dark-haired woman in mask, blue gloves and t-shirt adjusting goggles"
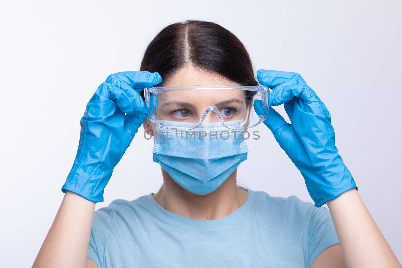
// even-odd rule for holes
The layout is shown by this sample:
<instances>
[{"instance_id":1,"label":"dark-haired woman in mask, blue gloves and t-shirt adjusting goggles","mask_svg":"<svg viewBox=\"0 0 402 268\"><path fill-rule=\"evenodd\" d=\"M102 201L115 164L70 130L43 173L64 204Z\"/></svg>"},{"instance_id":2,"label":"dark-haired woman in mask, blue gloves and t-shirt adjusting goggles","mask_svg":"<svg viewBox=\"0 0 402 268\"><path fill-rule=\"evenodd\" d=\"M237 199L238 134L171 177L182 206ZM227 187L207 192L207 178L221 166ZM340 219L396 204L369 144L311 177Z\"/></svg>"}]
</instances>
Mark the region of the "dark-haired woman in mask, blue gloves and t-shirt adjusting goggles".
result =
<instances>
[{"instance_id":1,"label":"dark-haired woman in mask, blue gloves and t-shirt adjusting goggles","mask_svg":"<svg viewBox=\"0 0 402 268\"><path fill-rule=\"evenodd\" d=\"M301 171L316 207L327 203L329 211L294 196L276 198L238 187L236 167L246 151L221 155L222 162L214 166L218 175L212 176L211 168L189 162L187 154L209 163L219 150L189 142L170 148L168 156L154 148L163 177L156 194L115 200L94 212L141 124L154 142L161 140L160 124L155 123L160 113L151 110L156 116L148 118L150 105L140 97L144 88L258 85L242 43L219 25L203 21L164 28L146 49L141 70L109 76L88 103L76 160L62 188L63 202L33 267L400 267L338 155L328 110L295 73L257 71L258 82L273 89L271 106L284 104L292 122L269 108L264 123ZM227 94L215 91L208 98ZM183 96L176 101L183 102ZM191 116L198 119L193 114L198 106L205 108L205 94L186 96L199 105L180 104L166 112L168 120L162 119L179 118L180 126ZM161 101L152 108L162 110ZM249 113L251 106L244 103ZM265 113L263 102L252 106L257 115ZM213 110L224 119L238 112L231 106L209 107L206 114ZM204 116L201 123L212 123L211 118ZM244 122L250 126L249 117ZM207 180L198 183L196 176ZM216 183L211 186L209 180Z\"/></svg>"}]
</instances>

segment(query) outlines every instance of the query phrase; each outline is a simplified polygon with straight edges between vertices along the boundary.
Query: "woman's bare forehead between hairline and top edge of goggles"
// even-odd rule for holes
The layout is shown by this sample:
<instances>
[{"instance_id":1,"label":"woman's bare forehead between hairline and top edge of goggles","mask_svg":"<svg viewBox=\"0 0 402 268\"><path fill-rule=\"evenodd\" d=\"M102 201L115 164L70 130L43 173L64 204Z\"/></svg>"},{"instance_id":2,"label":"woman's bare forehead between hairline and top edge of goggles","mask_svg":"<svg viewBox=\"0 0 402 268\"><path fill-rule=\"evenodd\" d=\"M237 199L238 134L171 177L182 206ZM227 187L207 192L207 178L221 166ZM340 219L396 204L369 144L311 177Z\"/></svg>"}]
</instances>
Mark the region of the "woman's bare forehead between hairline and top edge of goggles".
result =
<instances>
[{"instance_id":1,"label":"woman's bare forehead between hairline and top edge of goggles","mask_svg":"<svg viewBox=\"0 0 402 268\"><path fill-rule=\"evenodd\" d=\"M180 68L171 74L166 80L162 77L162 83L159 86L196 86L196 85L231 85L240 86L240 84L223 78L218 74L206 72L188 65Z\"/></svg>"}]
</instances>

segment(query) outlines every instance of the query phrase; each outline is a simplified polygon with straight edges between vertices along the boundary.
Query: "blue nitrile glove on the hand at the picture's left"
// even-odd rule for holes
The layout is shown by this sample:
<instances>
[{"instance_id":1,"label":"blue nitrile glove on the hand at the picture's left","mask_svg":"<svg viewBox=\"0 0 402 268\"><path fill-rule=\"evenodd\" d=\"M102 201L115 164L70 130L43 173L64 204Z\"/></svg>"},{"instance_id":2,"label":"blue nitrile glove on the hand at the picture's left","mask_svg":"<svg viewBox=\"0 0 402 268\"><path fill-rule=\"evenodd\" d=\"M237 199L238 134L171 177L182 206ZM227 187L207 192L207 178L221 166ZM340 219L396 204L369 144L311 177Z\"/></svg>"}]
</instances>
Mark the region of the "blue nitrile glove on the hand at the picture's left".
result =
<instances>
[{"instance_id":1,"label":"blue nitrile glove on the hand at the picture's left","mask_svg":"<svg viewBox=\"0 0 402 268\"><path fill-rule=\"evenodd\" d=\"M158 72L135 71L111 74L100 84L81 118L80 143L63 192L103 202L103 189L113 168L148 117L138 92L160 82Z\"/></svg>"}]
</instances>

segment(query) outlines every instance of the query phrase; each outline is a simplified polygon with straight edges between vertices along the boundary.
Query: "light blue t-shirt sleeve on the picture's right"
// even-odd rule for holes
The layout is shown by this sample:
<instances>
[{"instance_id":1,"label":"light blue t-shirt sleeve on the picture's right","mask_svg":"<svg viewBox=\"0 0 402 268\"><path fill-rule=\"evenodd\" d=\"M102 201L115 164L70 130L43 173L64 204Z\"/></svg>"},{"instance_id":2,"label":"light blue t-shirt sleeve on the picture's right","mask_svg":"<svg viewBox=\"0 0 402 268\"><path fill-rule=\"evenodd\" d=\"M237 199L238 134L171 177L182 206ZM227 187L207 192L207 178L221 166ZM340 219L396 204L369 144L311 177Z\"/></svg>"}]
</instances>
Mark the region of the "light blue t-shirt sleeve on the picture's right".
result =
<instances>
[{"instance_id":1,"label":"light blue t-shirt sleeve on the picture's right","mask_svg":"<svg viewBox=\"0 0 402 268\"><path fill-rule=\"evenodd\" d=\"M321 252L339 243L335 226L328 209L325 207L318 209L314 207L312 209L313 212L308 228L308 267L311 266Z\"/></svg>"}]
</instances>

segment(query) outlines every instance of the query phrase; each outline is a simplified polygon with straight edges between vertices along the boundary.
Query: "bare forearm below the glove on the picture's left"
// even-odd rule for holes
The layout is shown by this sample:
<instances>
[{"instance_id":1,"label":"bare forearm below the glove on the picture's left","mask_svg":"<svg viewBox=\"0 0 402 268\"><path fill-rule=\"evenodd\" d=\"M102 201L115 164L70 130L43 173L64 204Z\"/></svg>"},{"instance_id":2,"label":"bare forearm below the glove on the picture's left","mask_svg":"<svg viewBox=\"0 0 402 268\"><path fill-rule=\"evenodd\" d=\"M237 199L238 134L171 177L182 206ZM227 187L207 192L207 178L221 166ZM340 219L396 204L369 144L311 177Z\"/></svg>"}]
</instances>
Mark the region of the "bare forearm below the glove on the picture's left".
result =
<instances>
[{"instance_id":1,"label":"bare forearm below the glove on the picture's left","mask_svg":"<svg viewBox=\"0 0 402 268\"><path fill-rule=\"evenodd\" d=\"M33 267L86 267L95 203L66 191Z\"/></svg>"}]
</instances>

